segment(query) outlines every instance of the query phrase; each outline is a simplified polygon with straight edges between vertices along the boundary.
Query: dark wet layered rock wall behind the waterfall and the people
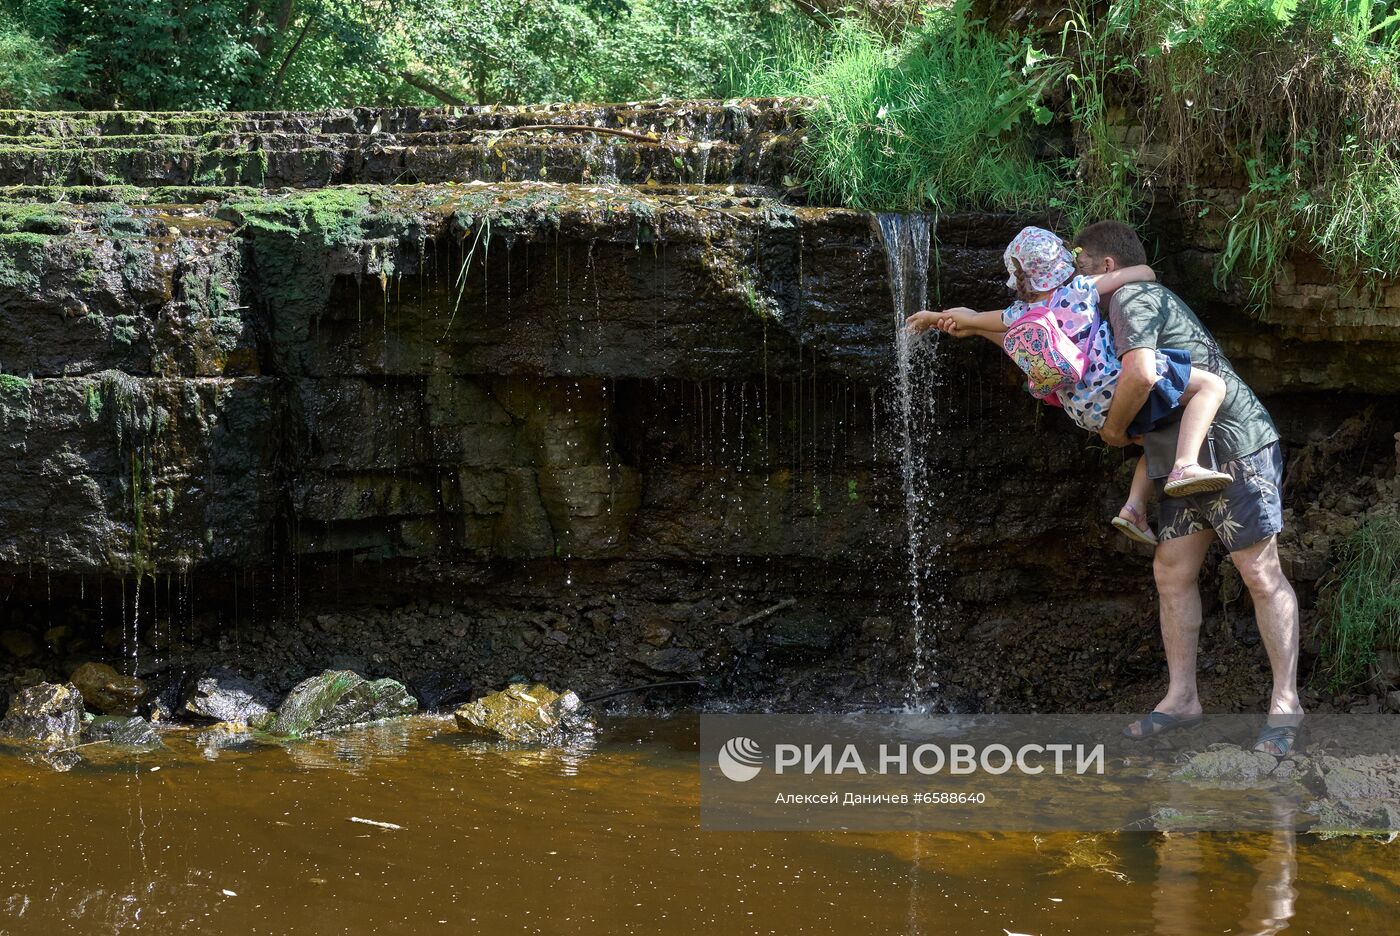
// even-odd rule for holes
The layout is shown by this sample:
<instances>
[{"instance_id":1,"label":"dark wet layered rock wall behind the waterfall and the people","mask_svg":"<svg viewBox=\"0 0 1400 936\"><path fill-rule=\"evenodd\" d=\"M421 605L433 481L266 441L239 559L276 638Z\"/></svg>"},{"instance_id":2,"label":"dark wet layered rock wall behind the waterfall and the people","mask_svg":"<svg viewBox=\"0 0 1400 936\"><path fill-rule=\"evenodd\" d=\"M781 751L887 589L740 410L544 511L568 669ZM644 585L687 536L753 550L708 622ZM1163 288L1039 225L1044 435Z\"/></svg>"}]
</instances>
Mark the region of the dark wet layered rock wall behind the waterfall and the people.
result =
<instances>
[{"instance_id":1,"label":"dark wet layered rock wall behind the waterfall and the people","mask_svg":"<svg viewBox=\"0 0 1400 936\"><path fill-rule=\"evenodd\" d=\"M146 649L195 644L203 666L238 632L277 690L349 656L477 687L900 701L886 263L868 215L781 187L791 105L0 125L20 139L0 180L28 186L0 204L0 453L27 480L0 492L0 645L25 667L66 674L59 644L139 610ZM937 295L1004 302L1026 221L939 218ZM1400 329L1383 309L1249 318L1187 234L1158 234L1163 280L1273 393L1285 448L1375 404L1327 455L1336 484L1289 481L1285 561L1310 585L1394 497L1372 442L1400 428ZM1158 681L1149 561L1105 523L1130 460L1037 409L990 346L932 354L913 575L945 698L1084 708ZM1204 592L1233 616L1207 634L1257 665L1238 579L1212 561ZM420 602L449 610L400 616ZM154 607L183 614L165 645ZM53 609L88 625L50 646ZM216 697L200 715L263 718Z\"/></svg>"}]
</instances>

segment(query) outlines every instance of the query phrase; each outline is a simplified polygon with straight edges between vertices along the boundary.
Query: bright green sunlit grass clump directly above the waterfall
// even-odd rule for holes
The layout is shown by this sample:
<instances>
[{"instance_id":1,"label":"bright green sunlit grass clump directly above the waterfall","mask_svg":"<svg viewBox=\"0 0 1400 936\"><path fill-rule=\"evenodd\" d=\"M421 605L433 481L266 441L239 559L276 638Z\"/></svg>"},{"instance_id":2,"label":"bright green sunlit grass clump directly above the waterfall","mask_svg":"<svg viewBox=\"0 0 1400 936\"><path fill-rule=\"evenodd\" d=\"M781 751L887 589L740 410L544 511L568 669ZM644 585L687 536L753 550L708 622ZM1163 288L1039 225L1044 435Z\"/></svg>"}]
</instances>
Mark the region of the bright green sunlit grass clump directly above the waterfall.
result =
<instances>
[{"instance_id":1,"label":"bright green sunlit grass clump directly above the waterfall","mask_svg":"<svg viewBox=\"0 0 1400 936\"><path fill-rule=\"evenodd\" d=\"M746 94L818 98L802 158L815 194L862 208L1043 208L1053 168L1033 158L1033 84L1016 49L928 10L890 41L847 18L825 34L790 25L757 59Z\"/></svg>"}]
</instances>

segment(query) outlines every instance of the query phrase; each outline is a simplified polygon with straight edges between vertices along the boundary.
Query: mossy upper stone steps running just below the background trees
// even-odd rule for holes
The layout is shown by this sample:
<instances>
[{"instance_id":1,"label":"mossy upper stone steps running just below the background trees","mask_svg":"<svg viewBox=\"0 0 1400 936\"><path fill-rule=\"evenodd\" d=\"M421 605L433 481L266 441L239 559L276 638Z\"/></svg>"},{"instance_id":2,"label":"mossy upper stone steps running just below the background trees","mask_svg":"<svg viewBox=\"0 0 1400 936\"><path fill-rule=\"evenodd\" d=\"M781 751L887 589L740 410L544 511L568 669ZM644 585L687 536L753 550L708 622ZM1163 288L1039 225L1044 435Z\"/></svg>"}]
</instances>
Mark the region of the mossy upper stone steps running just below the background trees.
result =
<instances>
[{"instance_id":1,"label":"mossy upper stone steps running just below the background trees","mask_svg":"<svg viewBox=\"0 0 1400 936\"><path fill-rule=\"evenodd\" d=\"M8 186L781 185L801 139L801 113L784 101L470 113L4 113L13 116L0 116L0 185ZM560 129L531 129L545 125Z\"/></svg>"}]
</instances>

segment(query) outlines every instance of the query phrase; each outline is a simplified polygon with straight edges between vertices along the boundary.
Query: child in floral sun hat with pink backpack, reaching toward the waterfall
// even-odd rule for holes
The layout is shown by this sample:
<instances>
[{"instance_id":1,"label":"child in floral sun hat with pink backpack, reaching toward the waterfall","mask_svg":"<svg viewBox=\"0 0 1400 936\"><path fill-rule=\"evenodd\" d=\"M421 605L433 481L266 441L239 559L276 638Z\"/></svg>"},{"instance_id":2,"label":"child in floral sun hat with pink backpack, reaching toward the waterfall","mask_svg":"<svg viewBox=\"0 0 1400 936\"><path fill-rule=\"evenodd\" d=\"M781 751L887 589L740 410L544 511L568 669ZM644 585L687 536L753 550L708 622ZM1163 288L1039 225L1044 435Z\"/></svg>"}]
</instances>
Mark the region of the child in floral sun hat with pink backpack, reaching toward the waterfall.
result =
<instances>
[{"instance_id":1,"label":"child in floral sun hat with pink backpack, reaching toward the waterfall","mask_svg":"<svg viewBox=\"0 0 1400 936\"><path fill-rule=\"evenodd\" d=\"M1015 290L1016 302L1005 311L974 312L967 308L945 309L942 313L916 312L909 318L909 327L925 330L937 327L955 337L980 334L988 341L1004 346L1008 329L1018 323L1030 323L1040 318L1063 332L1070 357L1082 353L1082 372L1072 383L1065 383L1051 393L1037 395L1046 403L1064 407L1064 411L1081 428L1098 432L1109 414L1113 390L1117 386L1123 365L1113 350L1113 337L1099 315L1099 305L1120 285L1155 280L1151 267L1134 266L1095 277L1075 276L1074 255L1064 242L1044 228L1023 228L1011 242L1002 256L1009 278L1007 285ZM1044 334L1043 332L1040 333ZM1039 351L1042 341L1036 339ZM1014 354L1009 344L1004 350ZM1018 364L1028 365L1022 355ZM1071 371L1072 374L1074 371ZM1197 453L1205 442L1215 411L1225 399L1225 382L1221 378L1191 367L1190 354L1176 348L1156 351L1158 381L1142 409L1128 427L1130 437L1140 437L1175 418L1182 420L1182 431L1176 448L1176 463L1168 476L1163 491L1172 497L1186 497L1205 491L1218 491L1229 484L1231 477L1197 465ZM1049 386L1060 375L1047 371L1039 362L1028 369L1028 385ZM1156 534L1147 522L1147 499L1151 483L1147 477L1147 462L1138 459L1133 473L1128 499L1113 519L1113 526L1127 537L1140 543L1156 543Z\"/></svg>"}]
</instances>

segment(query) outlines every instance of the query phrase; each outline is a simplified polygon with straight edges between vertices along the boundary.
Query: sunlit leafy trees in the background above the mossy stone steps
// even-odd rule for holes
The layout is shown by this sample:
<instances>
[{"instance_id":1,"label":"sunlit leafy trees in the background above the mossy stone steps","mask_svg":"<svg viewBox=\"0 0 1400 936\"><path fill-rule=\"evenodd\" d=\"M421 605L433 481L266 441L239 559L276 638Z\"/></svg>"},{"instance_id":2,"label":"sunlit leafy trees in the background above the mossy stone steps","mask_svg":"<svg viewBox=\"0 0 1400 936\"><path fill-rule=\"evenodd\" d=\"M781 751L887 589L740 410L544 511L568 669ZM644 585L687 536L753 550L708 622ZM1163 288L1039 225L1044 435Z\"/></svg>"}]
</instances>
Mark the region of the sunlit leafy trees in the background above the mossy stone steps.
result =
<instances>
[{"instance_id":1,"label":"sunlit leafy trees in the background above the mossy stone steps","mask_svg":"<svg viewBox=\"0 0 1400 936\"><path fill-rule=\"evenodd\" d=\"M0 0L0 52L18 64L0 105L707 95L760 20L748 0Z\"/></svg>"}]
</instances>

